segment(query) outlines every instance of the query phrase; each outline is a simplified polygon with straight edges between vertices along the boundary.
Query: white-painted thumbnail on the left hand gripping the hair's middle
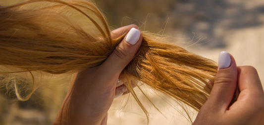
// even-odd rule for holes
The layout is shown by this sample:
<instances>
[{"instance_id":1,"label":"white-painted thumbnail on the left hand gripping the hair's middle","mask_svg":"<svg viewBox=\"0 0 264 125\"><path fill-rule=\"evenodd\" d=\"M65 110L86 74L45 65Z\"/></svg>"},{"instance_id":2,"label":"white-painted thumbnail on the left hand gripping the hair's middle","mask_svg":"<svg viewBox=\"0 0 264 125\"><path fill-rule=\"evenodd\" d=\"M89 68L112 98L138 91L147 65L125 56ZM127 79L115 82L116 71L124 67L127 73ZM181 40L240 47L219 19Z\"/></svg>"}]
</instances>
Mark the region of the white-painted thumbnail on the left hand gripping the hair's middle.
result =
<instances>
[{"instance_id":1,"label":"white-painted thumbnail on the left hand gripping the hair's middle","mask_svg":"<svg viewBox=\"0 0 264 125\"><path fill-rule=\"evenodd\" d=\"M140 31L137 30L136 28L132 28L126 36L126 42L134 45L138 42L139 37L140 37Z\"/></svg>"}]
</instances>

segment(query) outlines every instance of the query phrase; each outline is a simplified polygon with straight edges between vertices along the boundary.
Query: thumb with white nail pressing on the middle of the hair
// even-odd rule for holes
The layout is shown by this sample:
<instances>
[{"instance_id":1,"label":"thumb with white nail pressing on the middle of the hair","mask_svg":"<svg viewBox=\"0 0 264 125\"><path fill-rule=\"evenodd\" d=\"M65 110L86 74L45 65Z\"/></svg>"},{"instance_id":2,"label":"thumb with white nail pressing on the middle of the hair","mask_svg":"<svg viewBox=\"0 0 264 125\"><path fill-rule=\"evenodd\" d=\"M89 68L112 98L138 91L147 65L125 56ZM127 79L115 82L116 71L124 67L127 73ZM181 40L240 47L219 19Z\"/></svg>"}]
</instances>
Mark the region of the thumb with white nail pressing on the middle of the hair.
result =
<instances>
[{"instance_id":1,"label":"thumb with white nail pressing on the middle of the hair","mask_svg":"<svg viewBox=\"0 0 264 125\"><path fill-rule=\"evenodd\" d=\"M134 58L143 40L141 32L136 29L138 28L137 26L130 25L124 28L125 29L119 31L123 32L124 30L128 30L127 28L130 28L130 31L101 65L106 69L106 74L116 75L117 77Z\"/></svg>"}]
</instances>

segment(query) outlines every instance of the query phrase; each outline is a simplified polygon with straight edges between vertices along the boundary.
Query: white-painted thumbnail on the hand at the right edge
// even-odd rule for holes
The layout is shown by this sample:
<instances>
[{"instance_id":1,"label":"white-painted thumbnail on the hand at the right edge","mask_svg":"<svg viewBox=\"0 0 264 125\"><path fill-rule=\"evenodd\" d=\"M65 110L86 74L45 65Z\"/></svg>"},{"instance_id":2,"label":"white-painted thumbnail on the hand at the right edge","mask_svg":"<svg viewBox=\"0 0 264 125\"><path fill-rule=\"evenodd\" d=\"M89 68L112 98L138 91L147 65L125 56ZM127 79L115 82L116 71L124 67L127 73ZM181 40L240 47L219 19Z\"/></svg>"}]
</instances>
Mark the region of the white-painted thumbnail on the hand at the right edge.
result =
<instances>
[{"instance_id":1,"label":"white-painted thumbnail on the hand at the right edge","mask_svg":"<svg viewBox=\"0 0 264 125\"><path fill-rule=\"evenodd\" d=\"M231 64L231 58L229 53L225 51L220 52L218 58L218 68L219 69L228 68L230 64Z\"/></svg>"}]
</instances>

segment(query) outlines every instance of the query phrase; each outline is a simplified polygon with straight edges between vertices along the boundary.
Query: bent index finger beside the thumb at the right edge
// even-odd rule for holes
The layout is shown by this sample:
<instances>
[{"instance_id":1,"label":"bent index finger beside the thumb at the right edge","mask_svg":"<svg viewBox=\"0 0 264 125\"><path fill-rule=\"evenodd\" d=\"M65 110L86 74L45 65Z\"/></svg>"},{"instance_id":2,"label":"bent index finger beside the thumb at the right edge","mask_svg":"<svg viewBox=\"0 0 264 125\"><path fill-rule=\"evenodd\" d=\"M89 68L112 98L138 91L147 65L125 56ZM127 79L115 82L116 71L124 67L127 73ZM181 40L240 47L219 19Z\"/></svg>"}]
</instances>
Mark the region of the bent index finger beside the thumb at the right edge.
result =
<instances>
[{"instance_id":1,"label":"bent index finger beside the thumb at the right edge","mask_svg":"<svg viewBox=\"0 0 264 125\"><path fill-rule=\"evenodd\" d=\"M259 119L258 114L263 113L262 111L264 109L264 91L258 72L254 67L238 67L238 87L240 89L238 99L230 106L226 114L239 114L241 118L249 118L248 116L251 116L251 119ZM263 118L264 115L262 114L260 116Z\"/></svg>"}]
</instances>

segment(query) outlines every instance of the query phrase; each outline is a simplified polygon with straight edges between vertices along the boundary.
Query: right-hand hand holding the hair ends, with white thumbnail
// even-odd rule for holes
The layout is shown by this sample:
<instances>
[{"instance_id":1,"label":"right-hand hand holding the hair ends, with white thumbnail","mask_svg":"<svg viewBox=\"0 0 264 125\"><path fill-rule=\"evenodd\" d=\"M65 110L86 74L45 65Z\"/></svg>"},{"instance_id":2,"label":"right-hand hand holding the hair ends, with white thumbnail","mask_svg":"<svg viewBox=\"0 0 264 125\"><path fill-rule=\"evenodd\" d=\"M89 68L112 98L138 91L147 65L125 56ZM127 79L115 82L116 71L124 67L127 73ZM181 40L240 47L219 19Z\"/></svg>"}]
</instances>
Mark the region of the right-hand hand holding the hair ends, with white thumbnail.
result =
<instances>
[{"instance_id":1,"label":"right-hand hand holding the hair ends, with white thumbnail","mask_svg":"<svg viewBox=\"0 0 264 125\"><path fill-rule=\"evenodd\" d=\"M229 107L237 85L240 94ZM264 91L257 70L237 67L233 56L221 52L211 95L193 125L264 125Z\"/></svg>"}]
</instances>

